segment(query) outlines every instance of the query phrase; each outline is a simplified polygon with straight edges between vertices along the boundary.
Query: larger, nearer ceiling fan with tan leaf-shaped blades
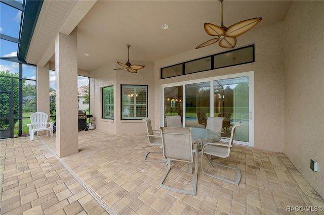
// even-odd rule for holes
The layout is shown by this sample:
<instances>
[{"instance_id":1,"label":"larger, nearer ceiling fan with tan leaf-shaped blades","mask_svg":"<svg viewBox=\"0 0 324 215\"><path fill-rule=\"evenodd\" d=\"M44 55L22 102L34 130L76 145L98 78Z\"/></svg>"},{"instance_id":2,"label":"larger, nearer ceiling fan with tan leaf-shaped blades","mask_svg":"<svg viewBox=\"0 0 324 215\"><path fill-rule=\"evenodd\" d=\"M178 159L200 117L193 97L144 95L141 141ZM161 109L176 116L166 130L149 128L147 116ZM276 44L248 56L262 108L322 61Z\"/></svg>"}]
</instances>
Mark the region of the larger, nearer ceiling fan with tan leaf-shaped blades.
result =
<instances>
[{"instance_id":1,"label":"larger, nearer ceiling fan with tan leaf-shaped blades","mask_svg":"<svg viewBox=\"0 0 324 215\"><path fill-rule=\"evenodd\" d=\"M236 45L236 37L244 34L254 26L256 26L262 18L253 18L244 20L238 23L235 23L228 28L223 25L223 0L218 0L221 2L221 12L222 12L222 23L221 26L217 26L211 23L205 23L204 29L208 35L216 36L216 38L213 38L211 40L208 40L207 42L204 42L203 44L198 45L196 48L205 47L211 44L214 44L219 40L219 46L223 48L233 48Z\"/></svg>"}]
</instances>

